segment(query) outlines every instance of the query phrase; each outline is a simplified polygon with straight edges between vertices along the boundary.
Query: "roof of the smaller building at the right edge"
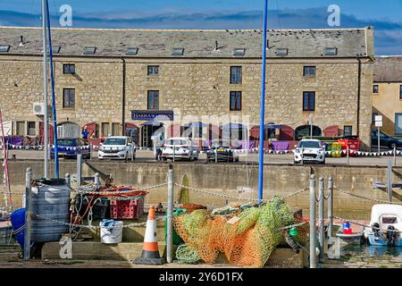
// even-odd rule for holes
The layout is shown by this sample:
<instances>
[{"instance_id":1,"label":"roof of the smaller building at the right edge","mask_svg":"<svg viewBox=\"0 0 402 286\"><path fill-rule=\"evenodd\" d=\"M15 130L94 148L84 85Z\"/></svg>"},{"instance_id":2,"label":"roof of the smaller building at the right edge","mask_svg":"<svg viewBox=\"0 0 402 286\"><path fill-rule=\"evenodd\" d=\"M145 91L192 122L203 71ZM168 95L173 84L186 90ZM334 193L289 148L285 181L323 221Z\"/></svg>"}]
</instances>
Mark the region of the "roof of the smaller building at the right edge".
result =
<instances>
[{"instance_id":1,"label":"roof of the smaller building at the right edge","mask_svg":"<svg viewBox=\"0 0 402 286\"><path fill-rule=\"evenodd\" d=\"M402 55L376 57L373 69L376 82L402 82Z\"/></svg>"}]
</instances>

